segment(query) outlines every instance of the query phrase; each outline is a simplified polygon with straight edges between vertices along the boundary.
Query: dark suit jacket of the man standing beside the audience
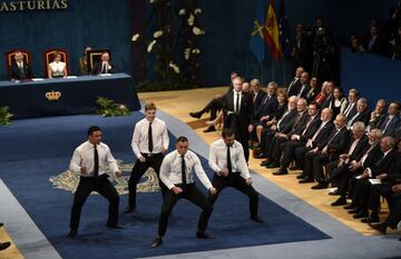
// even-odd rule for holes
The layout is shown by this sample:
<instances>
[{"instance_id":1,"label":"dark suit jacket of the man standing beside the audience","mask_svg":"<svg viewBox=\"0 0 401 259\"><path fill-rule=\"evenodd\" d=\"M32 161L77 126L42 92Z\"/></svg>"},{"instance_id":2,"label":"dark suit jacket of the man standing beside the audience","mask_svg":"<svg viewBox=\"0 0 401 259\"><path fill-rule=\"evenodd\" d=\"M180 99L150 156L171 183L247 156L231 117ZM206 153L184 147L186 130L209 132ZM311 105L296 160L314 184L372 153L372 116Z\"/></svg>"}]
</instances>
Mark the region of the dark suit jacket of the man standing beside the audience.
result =
<instances>
[{"instance_id":1,"label":"dark suit jacket of the man standing beside the audience","mask_svg":"<svg viewBox=\"0 0 401 259\"><path fill-rule=\"evenodd\" d=\"M223 97L223 113L224 113L224 124L225 127L231 127L231 120L234 114L234 91L227 92ZM228 114L231 113L231 114ZM248 93L242 92L239 112L235 114L236 121L239 122L239 127L243 129L248 124L253 124L254 120L253 102L252 96Z\"/></svg>"}]
</instances>

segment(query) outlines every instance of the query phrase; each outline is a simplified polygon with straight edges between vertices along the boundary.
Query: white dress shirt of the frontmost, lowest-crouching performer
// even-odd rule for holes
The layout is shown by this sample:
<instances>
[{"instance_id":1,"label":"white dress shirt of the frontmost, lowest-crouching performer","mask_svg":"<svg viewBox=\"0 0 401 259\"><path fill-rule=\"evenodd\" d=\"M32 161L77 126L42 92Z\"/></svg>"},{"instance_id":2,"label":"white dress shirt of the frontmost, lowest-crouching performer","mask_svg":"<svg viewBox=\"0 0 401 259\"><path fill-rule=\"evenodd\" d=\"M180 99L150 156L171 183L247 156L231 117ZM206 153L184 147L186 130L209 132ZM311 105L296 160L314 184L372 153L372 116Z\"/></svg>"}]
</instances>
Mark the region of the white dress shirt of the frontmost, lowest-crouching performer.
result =
<instances>
[{"instance_id":1,"label":"white dress shirt of the frontmost, lowest-crouching performer","mask_svg":"<svg viewBox=\"0 0 401 259\"><path fill-rule=\"evenodd\" d=\"M202 183L209 189L212 182L207 178L204 169L202 168L199 158L190 150L184 155L185 159L185 176L186 183L194 183L194 169L196 176L199 178ZM183 158L177 150L168 153L162 162L160 167L160 180L166 185L168 189L175 187L175 185L183 183L182 179L182 161Z\"/></svg>"}]
</instances>

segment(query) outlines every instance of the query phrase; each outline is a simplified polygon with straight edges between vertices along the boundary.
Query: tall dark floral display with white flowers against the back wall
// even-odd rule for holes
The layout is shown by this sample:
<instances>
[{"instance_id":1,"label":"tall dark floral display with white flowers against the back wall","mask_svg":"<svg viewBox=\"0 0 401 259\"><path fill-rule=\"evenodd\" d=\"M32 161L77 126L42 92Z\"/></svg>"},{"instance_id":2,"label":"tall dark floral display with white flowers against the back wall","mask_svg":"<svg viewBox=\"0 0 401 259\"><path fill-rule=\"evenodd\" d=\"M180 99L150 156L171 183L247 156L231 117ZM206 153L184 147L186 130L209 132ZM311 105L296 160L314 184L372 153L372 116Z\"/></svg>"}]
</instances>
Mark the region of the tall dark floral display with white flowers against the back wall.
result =
<instances>
[{"instance_id":1,"label":"tall dark floral display with white flowers against the back wall","mask_svg":"<svg viewBox=\"0 0 401 259\"><path fill-rule=\"evenodd\" d=\"M135 33L134 43L143 40L154 56L156 77L138 83L139 91L189 89L199 86L199 38L205 30L198 24L202 9L197 0L148 0L156 30L148 37Z\"/></svg>"}]
</instances>

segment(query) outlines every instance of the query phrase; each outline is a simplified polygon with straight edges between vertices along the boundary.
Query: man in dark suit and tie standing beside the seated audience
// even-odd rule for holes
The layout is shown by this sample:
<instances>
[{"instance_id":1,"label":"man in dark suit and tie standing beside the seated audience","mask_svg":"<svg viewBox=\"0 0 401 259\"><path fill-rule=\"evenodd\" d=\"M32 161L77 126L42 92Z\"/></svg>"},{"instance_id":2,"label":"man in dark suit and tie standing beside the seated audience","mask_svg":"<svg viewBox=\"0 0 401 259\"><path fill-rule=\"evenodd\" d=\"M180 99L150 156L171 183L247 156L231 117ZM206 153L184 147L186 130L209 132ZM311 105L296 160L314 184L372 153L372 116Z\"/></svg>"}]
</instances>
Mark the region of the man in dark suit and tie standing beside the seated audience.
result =
<instances>
[{"instance_id":1,"label":"man in dark suit and tie standing beside the seated audience","mask_svg":"<svg viewBox=\"0 0 401 259\"><path fill-rule=\"evenodd\" d=\"M224 128L231 128L244 148L245 160L250 159L250 132L253 131L253 102L248 93L242 91L243 79L233 80L234 89L223 97Z\"/></svg>"}]
</instances>

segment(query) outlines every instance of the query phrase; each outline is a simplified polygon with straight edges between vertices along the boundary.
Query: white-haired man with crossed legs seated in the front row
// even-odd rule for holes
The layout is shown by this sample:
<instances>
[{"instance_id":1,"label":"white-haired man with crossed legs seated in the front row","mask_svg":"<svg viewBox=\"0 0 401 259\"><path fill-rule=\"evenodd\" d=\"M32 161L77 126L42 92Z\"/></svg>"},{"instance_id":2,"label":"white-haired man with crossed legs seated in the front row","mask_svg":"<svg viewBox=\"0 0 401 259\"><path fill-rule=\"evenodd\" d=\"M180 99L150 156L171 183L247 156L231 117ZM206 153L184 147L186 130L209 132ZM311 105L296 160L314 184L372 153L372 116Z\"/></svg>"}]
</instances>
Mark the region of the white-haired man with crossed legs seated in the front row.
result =
<instances>
[{"instance_id":1,"label":"white-haired man with crossed legs seated in the front row","mask_svg":"<svg viewBox=\"0 0 401 259\"><path fill-rule=\"evenodd\" d=\"M339 185L338 191L338 193L341 196L335 202L332 203L332 206L346 205L345 193L348 189L344 187L344 185L346 185L349 181L349 178L346 178L349 175L346 175L344 171L349 169L353 161L359 161L369 147L369 138L365 135L365 126L363 122L358 121L354 123L352 129L352 138L348 152L340 155L340 159L329 163L329 178L316 178L316 181L324 187L327 187L329 183L333 181L341 182L341 185Z\"/></svg>"}]
</instances>

